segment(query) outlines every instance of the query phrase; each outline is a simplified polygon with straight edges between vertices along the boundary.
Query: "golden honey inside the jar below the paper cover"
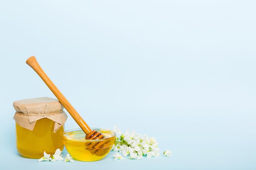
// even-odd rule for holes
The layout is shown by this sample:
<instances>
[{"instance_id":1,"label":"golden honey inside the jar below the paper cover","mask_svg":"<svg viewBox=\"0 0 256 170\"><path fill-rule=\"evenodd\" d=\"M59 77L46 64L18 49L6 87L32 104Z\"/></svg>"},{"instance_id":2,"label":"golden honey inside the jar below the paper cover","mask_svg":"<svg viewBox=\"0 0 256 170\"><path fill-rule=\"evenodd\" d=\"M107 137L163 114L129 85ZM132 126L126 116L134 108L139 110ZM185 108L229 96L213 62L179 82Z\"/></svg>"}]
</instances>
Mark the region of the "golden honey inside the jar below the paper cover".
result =
<instances>
[{"instance_id":1,"label":"golden honey inside the jar below the paper cover","mask_svg":"<svg viewBox=\"0 0 256 170\"><path fill-rule=\"evenodd\" d=\"M54 121L47 118L36 121L32 131L16 124L17 151L23 157L41 158L44 151L52 155L58 148L63 150L64 127L61 126L55 133L53 129Z\"/></svg>"}]
</instances>

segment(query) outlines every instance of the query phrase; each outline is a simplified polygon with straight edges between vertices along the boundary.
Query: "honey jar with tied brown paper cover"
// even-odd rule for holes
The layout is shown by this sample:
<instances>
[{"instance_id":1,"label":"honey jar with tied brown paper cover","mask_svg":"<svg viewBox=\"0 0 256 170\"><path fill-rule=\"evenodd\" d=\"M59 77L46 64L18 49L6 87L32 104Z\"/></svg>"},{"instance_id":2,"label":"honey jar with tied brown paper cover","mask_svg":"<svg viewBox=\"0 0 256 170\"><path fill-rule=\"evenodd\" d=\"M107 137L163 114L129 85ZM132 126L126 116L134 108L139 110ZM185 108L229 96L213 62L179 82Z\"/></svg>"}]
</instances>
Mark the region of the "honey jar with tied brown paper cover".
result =
<instances>
[{"instance_id":1,"label":"honey jar with tied brown paper cover","mask_svg":"<svg viewBox=\"0 0 256 170\"><path fill-rule=\"evenodd\" d=\"M16 113L16 148L23 157L39 159L43 152L63 150L67 114L57 99L39 97L13 102Z\"/></svg>"}]
</instances>

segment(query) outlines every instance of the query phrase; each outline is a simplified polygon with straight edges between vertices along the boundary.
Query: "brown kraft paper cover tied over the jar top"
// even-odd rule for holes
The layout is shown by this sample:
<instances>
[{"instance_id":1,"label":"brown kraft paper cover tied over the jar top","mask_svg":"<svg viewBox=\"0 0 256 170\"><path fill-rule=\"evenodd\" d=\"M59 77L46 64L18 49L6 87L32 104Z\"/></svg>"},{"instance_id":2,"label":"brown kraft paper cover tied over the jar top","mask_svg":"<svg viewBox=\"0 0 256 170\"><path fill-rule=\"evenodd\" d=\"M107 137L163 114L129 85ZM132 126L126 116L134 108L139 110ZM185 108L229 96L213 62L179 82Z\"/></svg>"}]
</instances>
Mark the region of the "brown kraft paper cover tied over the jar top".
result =
<instances>
[{"instance_id":1,"label":"brown kraft paper cover tied over the jar top","mask_svg":"<svg viewBox=\"0 0 256 170\"><path fill-rule=\"evenodd\" d=\"M29 130L34 129L37 120L48 118L55 122L56 132L67 120L61 103L50 97L18 100L13 102L13 107L16 110L13 119L19 126Z\"/></svg>"}]
</instances>

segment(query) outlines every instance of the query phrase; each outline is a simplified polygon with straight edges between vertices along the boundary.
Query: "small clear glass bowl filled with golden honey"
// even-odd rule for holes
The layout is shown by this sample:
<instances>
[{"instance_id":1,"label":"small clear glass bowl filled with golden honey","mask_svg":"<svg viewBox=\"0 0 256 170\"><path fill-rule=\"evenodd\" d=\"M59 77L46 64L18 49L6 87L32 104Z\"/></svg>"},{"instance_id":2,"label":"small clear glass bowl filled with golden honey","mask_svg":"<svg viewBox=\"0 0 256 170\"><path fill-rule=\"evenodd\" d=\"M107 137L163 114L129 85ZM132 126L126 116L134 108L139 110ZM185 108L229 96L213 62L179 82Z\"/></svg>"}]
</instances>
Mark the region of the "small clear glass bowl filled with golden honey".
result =
<instances>
[{"instance_id":1,"label":"small clear glass bowl filled with golden honey","mask_svg":"<svg viewBox=\"0 0 256 170\"><path fill-rule=\"evenodd\" d=\"M101 132L103 139L85 139L85 133L81 128L66 130L63 133L63 143L70 156L79 161L98 161L106 157L116 141L115 132L92 128Z\"/></svg>"}]
</instances>

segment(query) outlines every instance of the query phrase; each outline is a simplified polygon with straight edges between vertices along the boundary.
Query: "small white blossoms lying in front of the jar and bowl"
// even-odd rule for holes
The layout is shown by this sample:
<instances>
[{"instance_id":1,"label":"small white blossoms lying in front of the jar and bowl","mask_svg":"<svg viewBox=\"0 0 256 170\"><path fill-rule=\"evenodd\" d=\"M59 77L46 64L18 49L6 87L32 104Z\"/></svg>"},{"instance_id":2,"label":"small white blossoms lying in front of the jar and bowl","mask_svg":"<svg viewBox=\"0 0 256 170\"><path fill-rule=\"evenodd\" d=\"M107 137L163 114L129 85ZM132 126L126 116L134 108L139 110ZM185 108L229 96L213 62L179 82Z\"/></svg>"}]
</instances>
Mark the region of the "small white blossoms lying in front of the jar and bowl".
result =
<instances>
[{"instance_id":1,"label":"small white blossoms lying in front of the jar and bowl","mask_svg":"<svg viewBox=\"0 0 256 170\"><path fill-rule=\"evenodd\" d=\"M38 159L38 162L41 162L41 161L51 161L51 162L56 162L56 161L62 161L64 158L62 157L62 154L61 154L61 150L58 148L56 149L54 155L51 155L50 154L47 154L46 152L44 152L44 156L41 157L40 159ZM67 154L67 156L65 157L64 159L64 163L65 162L74 162L74 160L72 159L72 157L70 157L69 154Z\"/></svg>"}]
</instances>

